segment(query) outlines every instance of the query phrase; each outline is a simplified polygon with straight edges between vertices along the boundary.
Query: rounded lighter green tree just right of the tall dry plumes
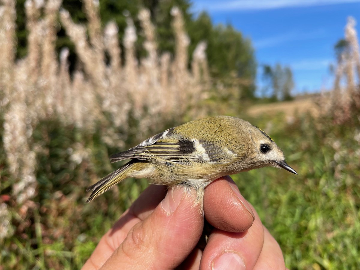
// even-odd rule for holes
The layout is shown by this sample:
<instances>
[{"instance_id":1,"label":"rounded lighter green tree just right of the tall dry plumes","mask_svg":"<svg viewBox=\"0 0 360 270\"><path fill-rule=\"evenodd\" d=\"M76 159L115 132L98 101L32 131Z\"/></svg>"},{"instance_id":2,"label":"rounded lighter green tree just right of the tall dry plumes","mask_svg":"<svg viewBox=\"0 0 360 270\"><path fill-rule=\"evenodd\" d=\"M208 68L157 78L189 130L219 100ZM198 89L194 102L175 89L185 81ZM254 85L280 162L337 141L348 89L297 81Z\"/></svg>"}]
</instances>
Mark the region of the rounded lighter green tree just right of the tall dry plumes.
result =
<instances>
[{"instance_id":1,"label":"rounded lighter green tree just right of the tall dry plumes","mask_svg":"<svg viewBox=\"0 0 360 270\"><path fill-rule=\"evenodd\" d=\"M190 51L198 42L207 42L207 57L210 75L226 87L235 87L238 93L232 94L239 101L254 98L256 61L249 39L231 25L213 26L206 12L199 14L188 29L192 44ZM219 95L219 93L217 93Z\"/></svg>"}]
</instances>

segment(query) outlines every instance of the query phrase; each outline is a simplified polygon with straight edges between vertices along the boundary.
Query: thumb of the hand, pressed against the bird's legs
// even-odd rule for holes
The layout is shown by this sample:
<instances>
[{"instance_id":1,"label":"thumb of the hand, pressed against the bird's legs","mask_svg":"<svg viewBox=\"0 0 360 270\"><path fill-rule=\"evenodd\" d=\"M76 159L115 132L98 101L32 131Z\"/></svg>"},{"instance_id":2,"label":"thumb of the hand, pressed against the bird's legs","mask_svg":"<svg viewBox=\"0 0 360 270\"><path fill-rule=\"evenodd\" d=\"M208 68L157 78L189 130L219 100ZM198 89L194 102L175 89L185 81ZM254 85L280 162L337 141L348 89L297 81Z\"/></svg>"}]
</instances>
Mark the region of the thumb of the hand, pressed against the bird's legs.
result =
<instances>
[{"instance_id":1,"label":"thumb of the hand, pressed against the bird's legs","mask_svg":"<svg viewBox=\"0 0 360 270\"><path fill-rule=\"evenodd\" d=\"M129 231L102 269L174 269L180 265L203 229L195 197L184 187L169 188L163 201Z\"/></svg>"}]
</instances>

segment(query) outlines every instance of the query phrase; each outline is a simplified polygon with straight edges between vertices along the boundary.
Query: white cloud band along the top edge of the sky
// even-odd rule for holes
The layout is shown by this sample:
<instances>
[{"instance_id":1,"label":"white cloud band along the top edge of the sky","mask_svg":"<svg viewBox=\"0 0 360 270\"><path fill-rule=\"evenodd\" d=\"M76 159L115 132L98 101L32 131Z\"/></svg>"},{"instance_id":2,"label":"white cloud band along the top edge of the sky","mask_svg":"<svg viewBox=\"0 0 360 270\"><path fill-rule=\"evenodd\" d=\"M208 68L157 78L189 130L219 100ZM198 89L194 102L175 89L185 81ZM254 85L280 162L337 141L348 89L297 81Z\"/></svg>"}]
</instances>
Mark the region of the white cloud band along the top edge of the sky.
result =
<instances>
[{"instance_id":1,"label":"white cloud band along the top edge of the sky","mask_svg":"<svg viewBox=\"0 0 360 270\"><path fill-rule=\"evenodd\" d=\"M215 3L212 1L194 1L199 9L215 11L233 11L233 10L261 10L293 8L306 6L321 6L333 4L357 3L360 0L232 0Z\"/></svg>"}]
</instances>

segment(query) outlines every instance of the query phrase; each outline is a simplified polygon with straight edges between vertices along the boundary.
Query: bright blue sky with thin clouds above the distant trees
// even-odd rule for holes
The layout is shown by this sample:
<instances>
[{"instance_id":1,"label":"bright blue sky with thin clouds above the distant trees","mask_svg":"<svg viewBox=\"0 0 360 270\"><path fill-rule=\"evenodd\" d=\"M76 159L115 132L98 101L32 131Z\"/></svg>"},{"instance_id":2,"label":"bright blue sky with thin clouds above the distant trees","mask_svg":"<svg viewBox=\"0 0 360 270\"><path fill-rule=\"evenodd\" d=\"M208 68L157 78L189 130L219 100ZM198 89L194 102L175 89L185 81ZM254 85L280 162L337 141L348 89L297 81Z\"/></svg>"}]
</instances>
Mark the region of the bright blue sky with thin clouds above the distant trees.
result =
<instances>
[{"instance_id":1,"label":"bright blue sky with thin clouds above the distant trees","mask_svg":"<svg viewBox=\"0 0 360 270\"><path fill-rule=\"evenodd\" d=\"M213 23L228 24L252 40L259 64L292 68L295 91L329 88L334 44L344 37L348 16L358 22L360 0L193 0L192 11L206 10ZM261 85L261 69L258 84Z\"/></svg>"}]
</instances>

